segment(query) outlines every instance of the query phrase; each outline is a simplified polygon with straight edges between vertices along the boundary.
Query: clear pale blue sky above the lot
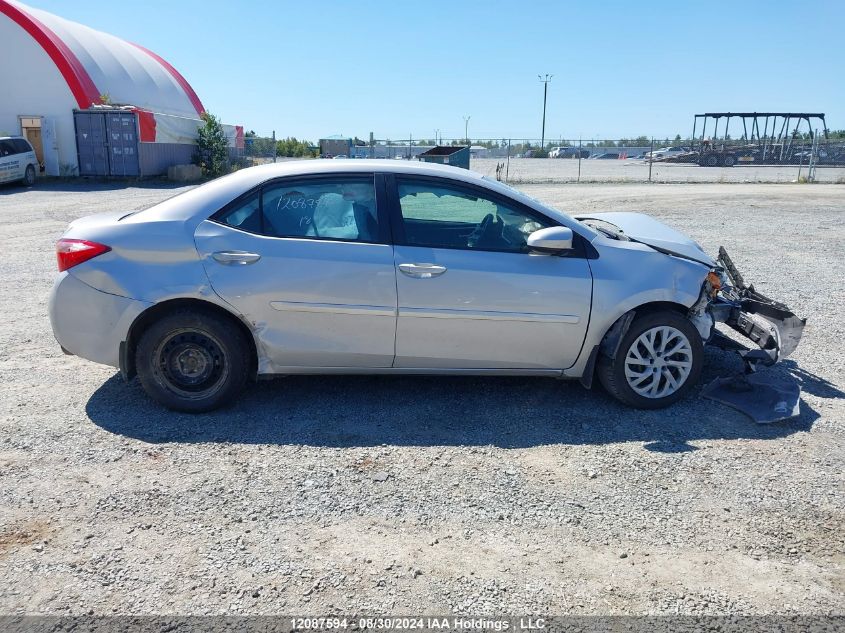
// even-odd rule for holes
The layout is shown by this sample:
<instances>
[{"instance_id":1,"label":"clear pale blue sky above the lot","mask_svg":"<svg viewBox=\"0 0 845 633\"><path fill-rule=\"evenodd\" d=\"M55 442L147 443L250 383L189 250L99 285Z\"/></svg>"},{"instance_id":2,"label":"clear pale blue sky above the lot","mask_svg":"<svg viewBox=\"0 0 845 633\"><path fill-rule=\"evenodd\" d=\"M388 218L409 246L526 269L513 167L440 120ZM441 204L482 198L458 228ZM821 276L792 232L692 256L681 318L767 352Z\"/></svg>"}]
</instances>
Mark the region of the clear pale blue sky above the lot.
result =
<instances>
[{"instance_id":1,"label":"clear pale blue sky above the lot","mask_svg":"<svg viewBox=\"0 0 845 633\"><path fill-rule=\"evenodd\" d=\"M155 51L206 109L316 141L674 137L713 111L845 129L845 0L28 0Z\"/></svg>"}]
</instances>

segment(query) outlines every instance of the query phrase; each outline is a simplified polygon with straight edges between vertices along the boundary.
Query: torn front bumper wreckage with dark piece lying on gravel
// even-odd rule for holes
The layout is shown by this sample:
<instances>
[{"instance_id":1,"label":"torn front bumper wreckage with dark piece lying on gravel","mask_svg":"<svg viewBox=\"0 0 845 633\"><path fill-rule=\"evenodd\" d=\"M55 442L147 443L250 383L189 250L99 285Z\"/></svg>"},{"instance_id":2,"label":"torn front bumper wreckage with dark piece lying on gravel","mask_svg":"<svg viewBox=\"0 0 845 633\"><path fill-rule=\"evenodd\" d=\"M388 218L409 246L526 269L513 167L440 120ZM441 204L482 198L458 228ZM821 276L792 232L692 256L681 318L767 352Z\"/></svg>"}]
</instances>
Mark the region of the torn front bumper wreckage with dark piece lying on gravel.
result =
<instances>
[{"instance_id":1,"label":"torn front bumper wreckage with dark piece lying on gravel","mask_svg":"<svg viewBox=\"0 0 845 633\"><path fill-rule=\"evenodd\" d=\"M770 424L799 415L801 388L794 379L774 372L760 371L789 356L804 331L801 319L784 304L773 301L746 286L724 248L719 248L718 263L724 270L729 288L723 288L711 304L733 330L756 343L760 349L748 349L741 343L715 332L711 345L734 350L742 358L744 372L717 378L702 391L705 398L737 409L758 424Z\"/></svg>"}]
</instances>

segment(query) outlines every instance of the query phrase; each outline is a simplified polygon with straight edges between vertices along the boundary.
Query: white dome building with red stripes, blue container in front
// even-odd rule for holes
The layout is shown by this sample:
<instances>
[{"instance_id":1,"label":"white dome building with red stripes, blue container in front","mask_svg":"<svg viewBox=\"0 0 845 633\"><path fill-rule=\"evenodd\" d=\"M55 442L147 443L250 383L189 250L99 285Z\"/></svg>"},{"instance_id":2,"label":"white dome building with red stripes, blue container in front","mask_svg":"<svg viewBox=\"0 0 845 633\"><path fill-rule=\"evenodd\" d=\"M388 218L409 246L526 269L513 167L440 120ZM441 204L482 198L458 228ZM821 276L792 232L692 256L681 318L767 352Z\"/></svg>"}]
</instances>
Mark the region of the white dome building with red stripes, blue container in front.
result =
<instances>
[{"instance_id":1,"label":"white dome building with red stripes, blue container in front","mask_svg":"<svg viewBox=\"0 0 845 633\"><path fill-rule=\"evenodd\" d=\"M190 162L203 104L143 46L0 0L0 58L0 136L27 137L47 174L145 176Z\"/></svg>"}]
</instances>

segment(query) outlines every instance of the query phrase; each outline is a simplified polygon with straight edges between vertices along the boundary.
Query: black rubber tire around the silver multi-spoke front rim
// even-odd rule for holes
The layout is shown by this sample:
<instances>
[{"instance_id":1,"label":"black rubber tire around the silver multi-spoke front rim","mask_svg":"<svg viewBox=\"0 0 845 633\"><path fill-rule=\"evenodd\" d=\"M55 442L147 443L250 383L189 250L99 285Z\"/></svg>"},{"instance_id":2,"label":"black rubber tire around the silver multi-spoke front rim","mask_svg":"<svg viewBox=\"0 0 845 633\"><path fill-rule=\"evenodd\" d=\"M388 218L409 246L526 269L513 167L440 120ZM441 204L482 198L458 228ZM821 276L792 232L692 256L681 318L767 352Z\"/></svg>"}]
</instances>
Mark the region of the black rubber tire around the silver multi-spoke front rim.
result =
<instances>
[{"instance_id":1,"label":"black rubber tire around the silver multi-spoke front rim","mask_svg":"<svg viewBox=\"0 0 845 633\"><path fill-rule=\"evenodd\" d=\"M632 346L634 345L634 342L637 341L640 336L653 330L654 328L664 326L672 328L686 337L686 342L689 345L689 353L686 354L686 352L684 352L685 355L682 358L688 357L690 359L691 367L689 368L689 373L684 378L684 381L672 393L663 397L646 397L637 393L629 384L629 381L626 378L625 361L632 349ZM680 340L680 338L678 340ZM670 357L667 356L666 358ZM666 358L664 358L664 362L667 362L668 364L670 361L666 360ZM675 358L672 362L681 362L681 359ZM604 355L599 355L596 364L596 373L602 386L604 386L610 395L620 402L637 409L660 409L674 404L690 392L701 377L701 368L703 364L704 344L702 343L701 335L698 333L698 330L695 329L695 326L689 321L689 319L677 312L661 311L646 313L643 316L636 318L628 328L628 332L622 338L616 358L611 360ZM642 371L647 372L649 370L645 367L645 365L643 365ZM658 369L654 368L652 371L658 372ZM663 370L661 370L661 373L662 371ZM668 384L665 377L656 376L656 378L658 379L659 384ZM673 379L674 378L677 378L677 376L673 376ZM652 378L652 380L654 380L654 378Z\"/></svg>"}]
</instances>

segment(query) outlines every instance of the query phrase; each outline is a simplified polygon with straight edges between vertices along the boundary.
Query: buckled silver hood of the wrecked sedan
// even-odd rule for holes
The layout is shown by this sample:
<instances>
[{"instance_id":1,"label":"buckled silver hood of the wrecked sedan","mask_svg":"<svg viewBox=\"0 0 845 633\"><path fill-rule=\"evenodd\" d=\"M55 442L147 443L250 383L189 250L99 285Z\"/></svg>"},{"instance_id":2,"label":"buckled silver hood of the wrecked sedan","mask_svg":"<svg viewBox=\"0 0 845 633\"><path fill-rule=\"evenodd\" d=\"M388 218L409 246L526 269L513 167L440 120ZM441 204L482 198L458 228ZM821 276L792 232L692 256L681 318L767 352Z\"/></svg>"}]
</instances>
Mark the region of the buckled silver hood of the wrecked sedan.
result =
<instances>
[{"instance_id":1,"label":"buckled silver hood of the wrecked sedan","mask_svg":"<svg viewBox=\"0 0 845 633\"><path fill-rule=\"evenodd\" d=\"M704 252L698 242L643 213L619 211L585 213L574 217L581 221L601 220L612 224L632 240L651 246L661 253L691 259L705 266L716 265L716 261Z\"/></svg>"}]
</instances>

